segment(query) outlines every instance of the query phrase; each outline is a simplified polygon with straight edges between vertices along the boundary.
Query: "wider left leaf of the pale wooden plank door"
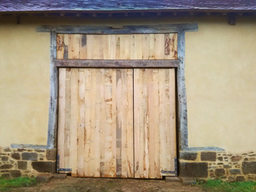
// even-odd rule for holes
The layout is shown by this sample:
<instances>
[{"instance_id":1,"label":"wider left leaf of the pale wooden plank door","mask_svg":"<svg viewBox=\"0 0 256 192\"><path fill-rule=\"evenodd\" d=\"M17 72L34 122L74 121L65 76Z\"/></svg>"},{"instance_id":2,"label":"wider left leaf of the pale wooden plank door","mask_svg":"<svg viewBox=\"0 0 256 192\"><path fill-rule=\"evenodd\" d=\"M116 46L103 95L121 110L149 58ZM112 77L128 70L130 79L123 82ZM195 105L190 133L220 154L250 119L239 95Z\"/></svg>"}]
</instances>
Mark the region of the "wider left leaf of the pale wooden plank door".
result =
<instances>
[{"instance_id":1,"label":"wider left leaf of the pale wooden plank door","mask_svg":"<svg viewBox=\"0 0 256 192\"><path fill-rule=\"evenodd\" d=\"M60 68L59 168L134 177L132 69Z\"/></svg>"}]
</instances>

